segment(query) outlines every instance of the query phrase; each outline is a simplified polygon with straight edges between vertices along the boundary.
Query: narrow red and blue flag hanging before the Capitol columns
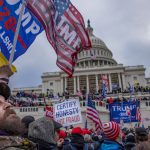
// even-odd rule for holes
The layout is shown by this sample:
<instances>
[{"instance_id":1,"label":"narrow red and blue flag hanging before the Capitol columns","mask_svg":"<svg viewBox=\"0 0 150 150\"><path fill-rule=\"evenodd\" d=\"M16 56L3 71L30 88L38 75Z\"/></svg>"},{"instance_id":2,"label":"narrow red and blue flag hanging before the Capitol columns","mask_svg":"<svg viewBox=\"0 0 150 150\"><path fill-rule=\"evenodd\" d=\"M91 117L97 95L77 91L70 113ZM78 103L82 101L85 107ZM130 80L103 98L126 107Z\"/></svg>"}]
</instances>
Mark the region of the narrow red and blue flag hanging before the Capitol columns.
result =
<instances>
[{"instance_id":1,"label":"narrow red and blue flag hanging before the Capitol columns","mask_svg":"<svg viewBox=\"0 0 150 150\"><path fill-rule=\"evenodd\" d=\"M102 75L102 98L107 97L108 92L108 78L107 75Z\"/></svg>"}]
</instances>

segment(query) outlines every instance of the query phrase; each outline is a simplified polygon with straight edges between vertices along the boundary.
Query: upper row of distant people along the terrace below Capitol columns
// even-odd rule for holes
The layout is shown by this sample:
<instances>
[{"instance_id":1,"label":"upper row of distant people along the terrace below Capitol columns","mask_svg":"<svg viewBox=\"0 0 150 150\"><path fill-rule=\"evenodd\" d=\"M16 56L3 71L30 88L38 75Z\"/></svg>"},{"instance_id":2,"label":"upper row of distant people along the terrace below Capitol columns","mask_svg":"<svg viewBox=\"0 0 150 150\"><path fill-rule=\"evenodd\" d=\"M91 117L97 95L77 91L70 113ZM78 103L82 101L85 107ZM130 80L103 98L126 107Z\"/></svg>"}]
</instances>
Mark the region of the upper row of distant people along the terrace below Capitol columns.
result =
<instances>
[{"instance_id":1,"label":"upper row of distant people along the terrace below Capitol columns","mask_svg":"<svg viewBox=\"0 0 150 150\"><path fill-rule=\"evenodd\" d=\"M146 86L146 87L142 87L142 86L136 86L136 87L133 87L132 88L132 91L130 89L130 87L127 87L125 90L120 90L121 88L117 88L117 89L112 89L112 92L107 92L107 95L108 97L110 97L112 94L115 95L115 94L136 94L136 93L150 93L150 87ZM57 93L57 94L54 94L52 91L49 91L49 89L47 89L48 92L45 94L45 93L40 93L40 94L37 94L34 90L32 90L30 93L29 92L25 92L25 91L18 91L16 93L16 96L17 98L21 98L21 97L26 97L26 98L30 98L32 100L34 99L42 99L42 98L49 98L49 99L59 99L59 98L63 98L63 97L68 97L68 96L78 96L80 98L80 100L85 100L86 99L86 87L84 87L81 91L77 90L76 91L76 94L72 94L71 92L69 92L69 89L66 88L65 91L63 93ZM102 89L99 89L98 92L95 92L95 90L91 89L89 94L92 94L93 95L93 99L95 100L102 100L103 97L102 97Z\"/></svg>"}]
</instances>

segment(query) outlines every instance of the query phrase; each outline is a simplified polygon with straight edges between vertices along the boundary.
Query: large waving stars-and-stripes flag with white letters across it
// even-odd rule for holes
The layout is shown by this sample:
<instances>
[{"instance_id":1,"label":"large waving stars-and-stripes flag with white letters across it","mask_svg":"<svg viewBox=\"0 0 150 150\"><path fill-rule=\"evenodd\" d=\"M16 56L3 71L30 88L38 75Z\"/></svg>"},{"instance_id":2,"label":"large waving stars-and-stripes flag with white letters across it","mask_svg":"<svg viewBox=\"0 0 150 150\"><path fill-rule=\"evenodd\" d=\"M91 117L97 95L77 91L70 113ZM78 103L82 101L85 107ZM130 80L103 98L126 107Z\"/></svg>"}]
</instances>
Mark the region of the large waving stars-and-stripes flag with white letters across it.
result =
<instances>
[{"instance_id":1,"label":"large waving stars-and-stripes flag with white letters across it","mask_svg":"<svg viewBox=\"0 0 150 150\"><path fill-rule=\"evenodd\" d=\"M42 23L57 54L56 64L71 76L77 53L91 48L81 14L70 0L29 0L27 6Z\"/></svg>"}]
</instances>

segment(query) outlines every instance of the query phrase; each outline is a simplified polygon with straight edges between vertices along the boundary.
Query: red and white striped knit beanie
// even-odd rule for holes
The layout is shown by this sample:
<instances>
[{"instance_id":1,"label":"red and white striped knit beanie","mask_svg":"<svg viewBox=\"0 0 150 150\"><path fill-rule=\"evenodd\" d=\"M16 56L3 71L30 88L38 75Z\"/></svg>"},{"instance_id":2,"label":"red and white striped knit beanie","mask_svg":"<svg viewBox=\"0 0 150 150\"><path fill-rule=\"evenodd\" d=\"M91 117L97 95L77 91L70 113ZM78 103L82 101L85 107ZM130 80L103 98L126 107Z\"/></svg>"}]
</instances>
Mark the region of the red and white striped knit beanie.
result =
<instances>
[{"instance_id":1,"label":"red and white striped knit beanie","mask_svg":"<svg viewBox=\"0 0 150 150\"><path fill-rule=\"evenodd\" d=\"M116 122L108 122L103 124L103 131L106 138L116 140L120 134L120 127Z\"/></svg>"}]
</instances>

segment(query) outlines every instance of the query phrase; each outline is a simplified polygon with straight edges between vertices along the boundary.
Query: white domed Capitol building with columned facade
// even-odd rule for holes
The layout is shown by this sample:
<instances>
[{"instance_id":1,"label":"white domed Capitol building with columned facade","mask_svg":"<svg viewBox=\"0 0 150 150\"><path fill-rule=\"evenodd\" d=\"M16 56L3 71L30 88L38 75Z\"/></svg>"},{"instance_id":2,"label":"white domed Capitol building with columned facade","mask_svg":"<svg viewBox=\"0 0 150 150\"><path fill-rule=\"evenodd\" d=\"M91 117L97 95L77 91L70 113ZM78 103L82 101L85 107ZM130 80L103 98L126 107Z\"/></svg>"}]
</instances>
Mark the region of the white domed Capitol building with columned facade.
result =
<instances>
[{"instance_id":1,"label":"white domed Capitol building with columned facade","mask_svg":"<svg viewBox=\"0 0 150 150\"><path fill-rule=\"evenodd\" d=\"M93 33L93 28L88 21L87 30L92 42L92 49L82 51L78 54L78 62L72 78L67 74L58 72L45 72L42 74L42 85L34 88L16 88L14 93L20 90L35 91L38 93L52 92L54 95L61 94L67 88L69 93L76 94L77 91L86 89L86 92L98 92L102 85L102 75L107 76L109 92L114 88L121 91L130 85L146 86L145 67L124 66L118 64L113 58L113 53L106 44Z\"/></svg>"}]
</instances>

